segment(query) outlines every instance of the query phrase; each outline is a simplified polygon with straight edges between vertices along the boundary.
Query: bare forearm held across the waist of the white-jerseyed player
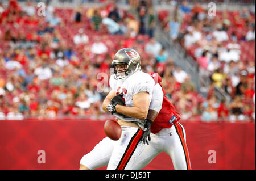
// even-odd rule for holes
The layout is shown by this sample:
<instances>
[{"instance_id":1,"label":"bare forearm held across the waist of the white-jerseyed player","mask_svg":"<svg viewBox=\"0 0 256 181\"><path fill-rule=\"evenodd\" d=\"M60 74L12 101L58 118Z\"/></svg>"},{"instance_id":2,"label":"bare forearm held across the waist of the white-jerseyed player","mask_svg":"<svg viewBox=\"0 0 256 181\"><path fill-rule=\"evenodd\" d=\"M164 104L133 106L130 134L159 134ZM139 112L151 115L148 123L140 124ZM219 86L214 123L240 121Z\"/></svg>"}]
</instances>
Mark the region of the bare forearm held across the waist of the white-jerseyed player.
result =
<instances>
[{"instance_id":1,"label":"bare forearm held across the waist of the white-jerseyed player","mask_svg":"<svg viewBox=\"0 0 256 181\"><path fill-rule=\"evenodd\" d=\"M143 109L139 107L128 107L122 105L115 106L115 110L117 110L118 113L137 119L146 119L148 113L148 109Z\"/></svg>"}]
</instances>

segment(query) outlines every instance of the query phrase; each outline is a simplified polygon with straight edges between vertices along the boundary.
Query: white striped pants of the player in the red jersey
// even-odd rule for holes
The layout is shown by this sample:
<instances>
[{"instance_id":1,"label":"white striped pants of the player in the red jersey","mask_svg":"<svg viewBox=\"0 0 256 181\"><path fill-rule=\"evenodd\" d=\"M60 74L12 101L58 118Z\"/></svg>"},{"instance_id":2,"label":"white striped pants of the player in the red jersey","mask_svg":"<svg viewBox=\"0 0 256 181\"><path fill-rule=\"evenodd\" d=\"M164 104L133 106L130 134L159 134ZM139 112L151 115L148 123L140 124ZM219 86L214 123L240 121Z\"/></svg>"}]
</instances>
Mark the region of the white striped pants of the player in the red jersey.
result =
<instances>
[{"instance_id":1,"label":"white striped pants of the player in the red jersey","mask_svg":"<svg viewBox=\"0 0 256 181\"><path fill-rule=\"evenodd\" d=\"M135 161L133 169L143 169L156 155L167 153L175 170L191 170L186 134L183 125L176 122L171 128L164 128L156 134L150 134L151 141Z\"/></svg>"}]
</instances>

